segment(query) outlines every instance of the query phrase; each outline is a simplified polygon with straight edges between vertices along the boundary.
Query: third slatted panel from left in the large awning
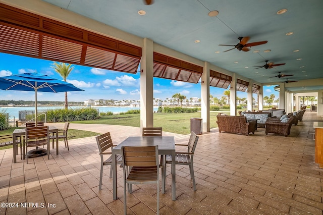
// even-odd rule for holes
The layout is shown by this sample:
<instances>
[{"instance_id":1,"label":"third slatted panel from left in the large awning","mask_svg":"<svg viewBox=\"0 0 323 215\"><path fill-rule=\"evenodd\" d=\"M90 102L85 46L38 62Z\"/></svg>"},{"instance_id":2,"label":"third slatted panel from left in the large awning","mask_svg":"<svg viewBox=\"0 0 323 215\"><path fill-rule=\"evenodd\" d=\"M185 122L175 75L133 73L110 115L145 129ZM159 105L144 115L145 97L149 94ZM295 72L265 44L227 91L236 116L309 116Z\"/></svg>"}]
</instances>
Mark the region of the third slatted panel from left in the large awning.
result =
<instances>
[{"instance_id":1,"label":"third slatted panel from left in the large awning","mask_svg":"<svg viewBox=\"0 0 323 215\"><path fill-rule=\"evenodd\" d=\"M116 53L87 47L84 64L88 66L95 66L100 68L113 68Z\"/></svg>"}]
</instances>

